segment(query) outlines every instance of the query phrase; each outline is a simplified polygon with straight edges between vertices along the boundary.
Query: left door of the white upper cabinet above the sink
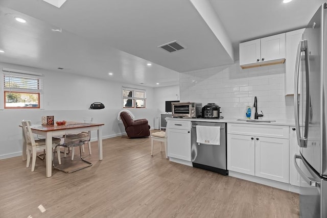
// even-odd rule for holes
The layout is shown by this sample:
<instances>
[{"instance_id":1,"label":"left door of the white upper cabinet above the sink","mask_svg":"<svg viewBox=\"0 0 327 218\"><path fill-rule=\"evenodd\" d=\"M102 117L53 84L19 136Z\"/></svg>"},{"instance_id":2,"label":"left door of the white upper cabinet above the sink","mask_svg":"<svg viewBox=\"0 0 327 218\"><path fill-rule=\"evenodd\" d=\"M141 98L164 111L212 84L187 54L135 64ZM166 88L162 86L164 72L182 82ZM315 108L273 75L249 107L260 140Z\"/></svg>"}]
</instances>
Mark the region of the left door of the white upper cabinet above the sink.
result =
<instances>
[{"instance_id":1,"label":"left door of the white upper cabinet above the sink","mask_svg":"<svg viewBox=\"0 0 327 218\"><path fill-rule=\"evenodd\" d=\"M260 62L260 39L240 43L240 65Z\"/></svg>"}]
</instances>

